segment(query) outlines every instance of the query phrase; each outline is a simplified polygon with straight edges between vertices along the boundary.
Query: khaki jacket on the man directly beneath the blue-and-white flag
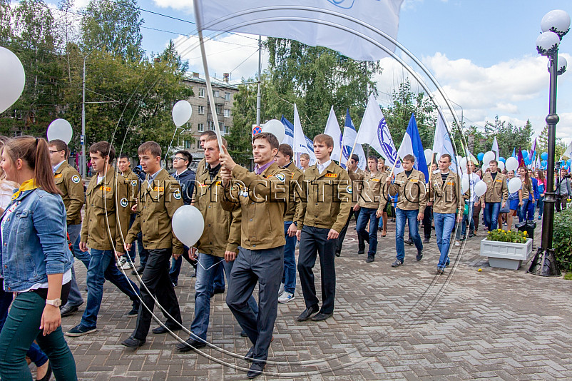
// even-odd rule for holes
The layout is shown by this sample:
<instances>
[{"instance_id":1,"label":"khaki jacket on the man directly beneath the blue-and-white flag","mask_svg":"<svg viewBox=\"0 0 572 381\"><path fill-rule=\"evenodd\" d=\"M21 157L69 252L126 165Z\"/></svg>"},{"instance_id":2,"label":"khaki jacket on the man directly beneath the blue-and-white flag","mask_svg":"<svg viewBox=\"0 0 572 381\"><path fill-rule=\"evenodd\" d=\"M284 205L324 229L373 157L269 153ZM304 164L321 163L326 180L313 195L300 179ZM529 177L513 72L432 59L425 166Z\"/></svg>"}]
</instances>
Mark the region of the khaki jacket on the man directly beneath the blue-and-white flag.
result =
<instances>
[{"instance_id":1,"label":"khaki jacket on the man directly beneath the blue-and-white flag","mask_svg":"<svg viewBox=\"0 0 572 381\"><path fill-rule=\"evenodd\" d=\"M387 181L387 180L386 180ZM395 176L395 180L389 186L389 194L394 196L399 193L397 208L401 210L419 210L424 213L427 206L427 189L425 188L425 175L417 169L413 169L409 178L405 171Z\"/></svg>"}]
</instances>

